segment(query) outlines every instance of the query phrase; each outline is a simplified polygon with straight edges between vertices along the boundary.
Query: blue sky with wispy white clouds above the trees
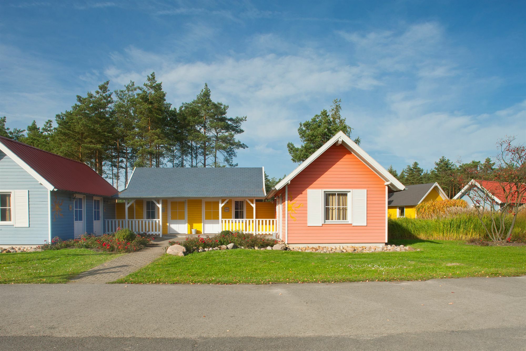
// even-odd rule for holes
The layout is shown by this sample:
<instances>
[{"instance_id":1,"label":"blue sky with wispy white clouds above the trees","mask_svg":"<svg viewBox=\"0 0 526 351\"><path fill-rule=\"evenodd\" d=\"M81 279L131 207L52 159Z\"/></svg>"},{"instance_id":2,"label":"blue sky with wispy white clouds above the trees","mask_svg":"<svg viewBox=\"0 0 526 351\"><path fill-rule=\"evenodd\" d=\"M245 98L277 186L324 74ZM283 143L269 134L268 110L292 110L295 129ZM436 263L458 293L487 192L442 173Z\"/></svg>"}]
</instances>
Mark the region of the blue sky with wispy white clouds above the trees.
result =
<instances>
[{"instance_id":1,"label":"blue sky with wispy white clouds above the trees","mask_svg":"<svg viewBox=\"0 0 526 351\"><path fill-rule=\"evenodd\" d=\"M241 167L294 169L298 123L342 100L386 168L483 160L526 141L526 3L460 1L0 3L0 116L39 125L111 81L155 71L176 106L207 82L247 115Z\"/></svg>"}]
</instances>

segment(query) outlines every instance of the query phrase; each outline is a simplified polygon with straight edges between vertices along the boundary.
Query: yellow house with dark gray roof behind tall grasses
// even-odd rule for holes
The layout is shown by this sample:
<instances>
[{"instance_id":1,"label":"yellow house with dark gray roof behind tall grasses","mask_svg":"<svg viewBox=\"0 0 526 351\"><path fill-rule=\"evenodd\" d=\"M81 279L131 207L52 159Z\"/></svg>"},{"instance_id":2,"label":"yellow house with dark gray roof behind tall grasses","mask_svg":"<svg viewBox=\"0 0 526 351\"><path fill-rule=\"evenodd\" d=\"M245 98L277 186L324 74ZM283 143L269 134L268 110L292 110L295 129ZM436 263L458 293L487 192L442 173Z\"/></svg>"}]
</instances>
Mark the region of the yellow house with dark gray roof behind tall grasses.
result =
<instances>
[{"instance_id":1,"label":"yellow house with dark gray roof behind tall grasses","mask_svg":"<svg viewBox=\"0 0 526 351\"><path fill-rule=\"evenodd\" d=\"M436 200L449 199L437 182L406 186L406 190L391 192L387 199L389 218L416 218L417 204Z\"/></svg>"}]
</instances>

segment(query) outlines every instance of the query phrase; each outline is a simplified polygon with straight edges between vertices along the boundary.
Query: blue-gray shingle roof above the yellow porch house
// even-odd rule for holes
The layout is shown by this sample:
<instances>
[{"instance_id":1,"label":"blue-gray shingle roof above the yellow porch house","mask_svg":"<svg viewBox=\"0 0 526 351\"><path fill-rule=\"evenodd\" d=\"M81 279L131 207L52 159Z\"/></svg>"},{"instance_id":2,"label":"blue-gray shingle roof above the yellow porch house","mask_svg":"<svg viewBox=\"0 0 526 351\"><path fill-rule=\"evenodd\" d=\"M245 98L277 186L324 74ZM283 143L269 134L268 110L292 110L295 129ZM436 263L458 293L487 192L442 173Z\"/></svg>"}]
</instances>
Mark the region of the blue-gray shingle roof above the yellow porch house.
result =
<instances>
[{"instance_id":1,"label":"blue-gray shingle roof above the yellow porch house","mask_svg":"<svg viewBox=\"0 0 526 351\"><path fill-rule=\"evenodd\" d=\"M117 198L265 197L262 168L136 168Z\"/></svg>"}]
</instances>

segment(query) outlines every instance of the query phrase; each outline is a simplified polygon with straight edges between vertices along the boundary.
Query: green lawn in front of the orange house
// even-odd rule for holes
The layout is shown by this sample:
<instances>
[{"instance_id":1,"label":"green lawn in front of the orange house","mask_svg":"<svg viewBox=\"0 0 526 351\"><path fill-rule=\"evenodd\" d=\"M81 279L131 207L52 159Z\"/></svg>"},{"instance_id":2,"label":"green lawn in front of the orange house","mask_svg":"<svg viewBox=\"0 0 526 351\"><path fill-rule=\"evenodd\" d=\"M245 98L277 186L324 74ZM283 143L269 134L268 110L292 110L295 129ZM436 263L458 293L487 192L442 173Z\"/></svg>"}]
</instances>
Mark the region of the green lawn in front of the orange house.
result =
<instances>
[{"instance_id":1,"label":"green lawn in front of the orange house","mask_svg":"<svg viewBox=\"0 0 526 351\"><path fill-rule=\"evenodd\" d=\"M421 251L314 253L221 250L163 255L117 280L127 283L268 284L424 280L526 274L526 247L481 247L464 241L397 240Z\"/></svg>"}]
</instances>

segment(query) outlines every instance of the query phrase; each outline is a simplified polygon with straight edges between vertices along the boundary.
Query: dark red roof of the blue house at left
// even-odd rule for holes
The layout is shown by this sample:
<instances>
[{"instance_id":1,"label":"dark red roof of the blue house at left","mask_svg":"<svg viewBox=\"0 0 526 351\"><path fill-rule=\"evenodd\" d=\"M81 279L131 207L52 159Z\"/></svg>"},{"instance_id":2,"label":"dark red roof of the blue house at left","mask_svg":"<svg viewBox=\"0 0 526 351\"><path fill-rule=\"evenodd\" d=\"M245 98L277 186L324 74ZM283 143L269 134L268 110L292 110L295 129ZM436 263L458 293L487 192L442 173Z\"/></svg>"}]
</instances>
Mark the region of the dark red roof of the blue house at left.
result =
<instances>
[{"instance_id":1,"label":"dark red roof of the blue house at left","mask_svg":"<svg viewBox=\"0 0 526 351\"><path fill-rule=\"evenodd\" d=\"M112 184L85 163L4 137L0 137L0 142L55 189L108 197L117 193Z\"/></svg>"}]
</instances>

